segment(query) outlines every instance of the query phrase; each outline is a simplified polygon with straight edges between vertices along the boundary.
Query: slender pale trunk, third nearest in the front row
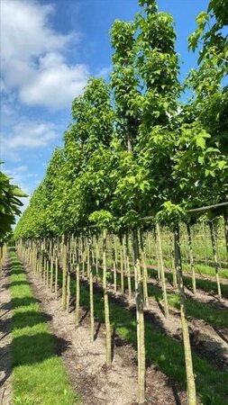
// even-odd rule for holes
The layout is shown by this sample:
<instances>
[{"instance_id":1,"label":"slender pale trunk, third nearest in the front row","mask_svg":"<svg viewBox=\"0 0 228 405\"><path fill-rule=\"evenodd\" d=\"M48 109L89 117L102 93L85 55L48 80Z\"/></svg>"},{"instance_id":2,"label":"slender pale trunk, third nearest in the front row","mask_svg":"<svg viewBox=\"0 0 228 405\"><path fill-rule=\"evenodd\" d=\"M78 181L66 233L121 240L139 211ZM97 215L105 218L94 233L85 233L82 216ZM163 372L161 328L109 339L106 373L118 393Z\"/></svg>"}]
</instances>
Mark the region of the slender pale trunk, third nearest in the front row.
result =
<instances>
[{"instance_id":1,"label":"slender pale trunk, third nearest in the front row","mask_svg":"<svg viewBox=\"0 0 228 405\"><path fill-rule=\"evenodd\" d=\"M103 290L105 302L105 329L106 329L106 365L112 363L112 350L111 350L111 326L109 320L109 303L107 293L107 265L106 265L106 229L103 230Z\"/></svg>"}]
</instances>

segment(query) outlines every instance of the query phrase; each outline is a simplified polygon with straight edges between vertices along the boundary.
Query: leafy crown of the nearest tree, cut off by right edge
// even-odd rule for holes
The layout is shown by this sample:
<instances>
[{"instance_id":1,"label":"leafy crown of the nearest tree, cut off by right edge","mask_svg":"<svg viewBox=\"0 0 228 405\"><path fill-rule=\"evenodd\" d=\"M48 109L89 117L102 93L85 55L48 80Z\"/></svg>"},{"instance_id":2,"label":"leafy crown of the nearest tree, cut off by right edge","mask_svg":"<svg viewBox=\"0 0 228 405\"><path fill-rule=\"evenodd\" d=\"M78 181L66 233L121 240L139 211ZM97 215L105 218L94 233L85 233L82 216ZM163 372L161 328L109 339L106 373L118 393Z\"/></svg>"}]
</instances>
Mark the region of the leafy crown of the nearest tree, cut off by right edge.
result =
<instances>
[{"instance_id":1,"label":"leafy crown of the nearest tree, cut off by right edge","mask_svg":"<svg viewBox=\"0 0 228 405\"><path fill-rule=\"evenodd\" d=\"M206 12L196 18L197 29L189 37L189 48L199 52L198 67L189 74L187 85L193 90L191 109L210 136L201 142L205 152L187 166L198 171L198 200L223 202L228 198L227 171L227 2L210 0ZM194 175L195 177L195 175ZM195 177L196 178L196 177Z\"/></svg>"}]
</instances>

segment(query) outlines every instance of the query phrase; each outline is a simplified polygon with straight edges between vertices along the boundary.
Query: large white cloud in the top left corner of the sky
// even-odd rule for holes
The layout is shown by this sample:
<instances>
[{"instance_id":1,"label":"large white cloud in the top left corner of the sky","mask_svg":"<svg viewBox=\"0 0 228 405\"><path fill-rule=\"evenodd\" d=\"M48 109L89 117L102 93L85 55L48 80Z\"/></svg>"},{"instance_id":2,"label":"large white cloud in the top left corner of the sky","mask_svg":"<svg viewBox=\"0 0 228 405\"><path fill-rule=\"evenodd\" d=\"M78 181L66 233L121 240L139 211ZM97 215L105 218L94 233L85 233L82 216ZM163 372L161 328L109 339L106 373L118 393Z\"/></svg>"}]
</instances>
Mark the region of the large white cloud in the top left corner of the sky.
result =
<instances>
[{"instance_id":1,"label":"large white cloud in the top left corner of the sky","mask_svg":"<svg viewBox=\"0 0 228 405\"><path fill-rule=\"evenodd\" d=\"M53 13L50 4L2 1L2 83L4 90L16 89L23 103L60 109L69 107L82 91L88 71L86 66L68 64L64 52L80 35L51 28Z\"/></svg>"}]
</instances>

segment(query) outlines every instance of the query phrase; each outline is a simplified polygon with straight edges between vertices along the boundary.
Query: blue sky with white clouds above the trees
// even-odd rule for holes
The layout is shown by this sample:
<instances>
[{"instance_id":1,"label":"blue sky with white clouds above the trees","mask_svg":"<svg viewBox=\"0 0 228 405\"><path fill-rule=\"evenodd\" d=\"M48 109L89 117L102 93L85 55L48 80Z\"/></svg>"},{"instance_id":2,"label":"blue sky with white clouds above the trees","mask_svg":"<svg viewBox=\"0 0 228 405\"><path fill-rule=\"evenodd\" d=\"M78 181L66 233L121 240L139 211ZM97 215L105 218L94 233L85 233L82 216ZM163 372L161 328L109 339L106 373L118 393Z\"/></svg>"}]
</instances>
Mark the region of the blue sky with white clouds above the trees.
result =
<instances>
[{"instance_id":1,"label":"blue sky with white clouds above the trees","mask_svg":"<svg viewBox=\"0 0 228 405\"><path fill-rule=\"evenodd\" d=\"M196 66L187 36L207 0L159 0L178 32L181 78ZM70 122L89 76L108 78L115 19L132 20L137 0L1 0L1 160L31 194ZM29 199L25 199L25 205Z\"/></svg>"}]
</instances>

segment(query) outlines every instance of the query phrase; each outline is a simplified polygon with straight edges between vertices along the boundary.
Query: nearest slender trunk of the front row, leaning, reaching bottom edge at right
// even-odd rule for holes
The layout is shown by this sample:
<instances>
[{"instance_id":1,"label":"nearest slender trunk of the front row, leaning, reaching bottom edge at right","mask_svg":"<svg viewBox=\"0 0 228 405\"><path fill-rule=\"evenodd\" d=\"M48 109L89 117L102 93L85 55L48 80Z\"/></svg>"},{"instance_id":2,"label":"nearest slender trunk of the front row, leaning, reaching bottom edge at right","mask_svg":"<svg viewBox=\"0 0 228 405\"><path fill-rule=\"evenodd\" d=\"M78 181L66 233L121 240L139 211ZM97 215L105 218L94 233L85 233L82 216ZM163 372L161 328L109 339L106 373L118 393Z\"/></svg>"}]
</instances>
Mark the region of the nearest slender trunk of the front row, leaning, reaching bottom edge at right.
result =
<instances>
[{"instance_id":1,"label":"nearest slender trunk of the front row, leaning, reaching bottom edge at right","mask_svg":"<svg viewBox=\"0 0 228 405\"><path fill-rule=\"evenodd\" d=\"M194 378L194 373L193 373L192 352L191 352L189 330L188 330L187 317L186 317L186 295L185 295L183 275L182 275L178 226L174 232L174 254L175 254L175 266L177 269L177 276L178 276L180 318L181 318L182 336L183 336L185 361L186 361L187 401L188 401L188 405L196 405L196 384L195 384L195 378Z\"/></svg>"}]
</instances>

